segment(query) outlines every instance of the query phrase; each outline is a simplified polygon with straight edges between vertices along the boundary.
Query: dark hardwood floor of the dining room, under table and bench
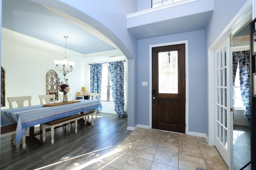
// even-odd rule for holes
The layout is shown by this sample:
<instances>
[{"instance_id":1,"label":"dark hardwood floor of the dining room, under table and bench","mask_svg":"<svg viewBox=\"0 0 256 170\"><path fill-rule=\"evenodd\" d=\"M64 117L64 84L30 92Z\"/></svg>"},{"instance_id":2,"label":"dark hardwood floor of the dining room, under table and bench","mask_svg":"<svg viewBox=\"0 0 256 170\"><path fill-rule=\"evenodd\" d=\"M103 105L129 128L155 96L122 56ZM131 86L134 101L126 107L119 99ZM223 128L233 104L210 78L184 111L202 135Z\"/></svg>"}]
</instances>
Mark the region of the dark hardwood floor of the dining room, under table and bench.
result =
<instances>
[{"instance_id":1,"label":"dark hardwood floor of the dining room, under table and bench","mask_svg":"<svg viewBox=\"0 0 256 170\"><path fill-rule=\"evenodd\" d=\"M54 145L50 142L50 131L46 132L46 142L43 145L26 141L25 150L22 149L22 145L14 146L10 136L2 137L0 169L72 169L76 167L77 162L93 161L90 159L93 156L102 156L116 147L132 132L126 128L127 117L98 113L94 126L78 124L76 134L74 123L70 132L62 127L55 129ZM36 137L40 139L40 135Z\"/></svg>"}]
</instances>

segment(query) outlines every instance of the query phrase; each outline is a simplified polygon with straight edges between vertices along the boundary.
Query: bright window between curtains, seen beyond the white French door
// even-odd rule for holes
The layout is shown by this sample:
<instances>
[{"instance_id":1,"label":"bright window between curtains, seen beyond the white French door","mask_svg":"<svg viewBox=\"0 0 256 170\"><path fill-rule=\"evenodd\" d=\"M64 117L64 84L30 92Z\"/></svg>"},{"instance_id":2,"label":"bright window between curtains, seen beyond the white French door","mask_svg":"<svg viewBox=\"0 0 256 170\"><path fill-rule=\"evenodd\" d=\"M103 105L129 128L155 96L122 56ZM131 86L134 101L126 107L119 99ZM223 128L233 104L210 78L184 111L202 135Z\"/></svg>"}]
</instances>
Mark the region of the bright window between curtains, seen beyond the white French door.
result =
<instances>
[{"instance_id":1,"label":"bright window between curtains, seen beyond the white French door","mask_svg":"<svg viewBox=\"0 0 256 170\"><path fill-rule=\"evenodd\" d=\"M241 91L240 91L240 80L239 80L239 64L236 69L236 77L235 77L235 106L236 109L245 109Z\"/></svg>"}]
</instances>

